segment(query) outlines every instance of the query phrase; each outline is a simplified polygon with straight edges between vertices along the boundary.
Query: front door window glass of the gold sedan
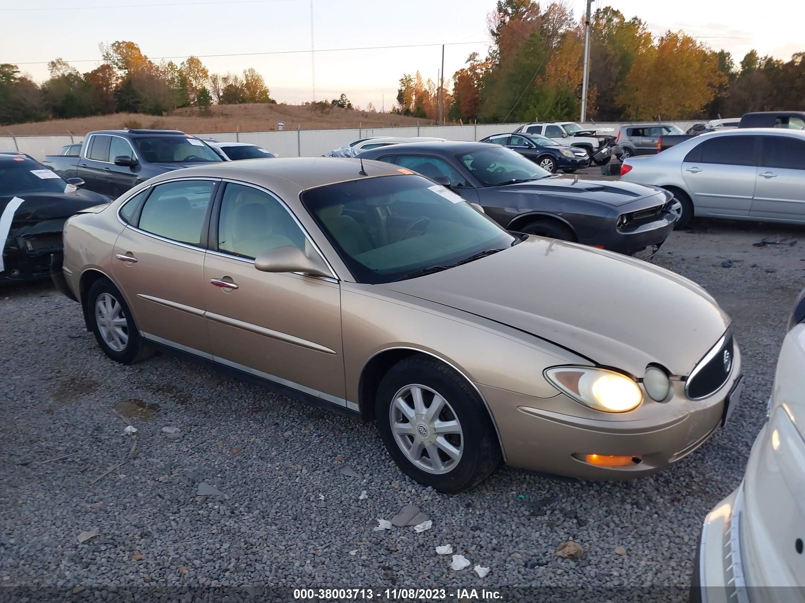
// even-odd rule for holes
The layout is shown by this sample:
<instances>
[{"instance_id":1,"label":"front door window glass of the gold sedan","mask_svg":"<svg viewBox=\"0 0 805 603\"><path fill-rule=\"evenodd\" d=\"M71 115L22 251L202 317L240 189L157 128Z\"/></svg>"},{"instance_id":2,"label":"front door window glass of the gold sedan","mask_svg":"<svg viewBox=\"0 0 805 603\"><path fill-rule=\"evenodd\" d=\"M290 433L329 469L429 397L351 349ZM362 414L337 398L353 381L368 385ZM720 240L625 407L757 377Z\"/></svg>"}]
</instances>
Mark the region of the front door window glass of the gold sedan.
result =
<instances>
[{"instance_id":1,"label":"front door window glass of the gold sedan","mask_svg":"<svg viewBox=\"0 0 805 603\"><path fill-rule=\"evenodd\" d=\"M305 251L299 225L277 199L242 184L227 184L218 219L218 251L254 259L277 247Z\"/></svg>"}]
</instances>

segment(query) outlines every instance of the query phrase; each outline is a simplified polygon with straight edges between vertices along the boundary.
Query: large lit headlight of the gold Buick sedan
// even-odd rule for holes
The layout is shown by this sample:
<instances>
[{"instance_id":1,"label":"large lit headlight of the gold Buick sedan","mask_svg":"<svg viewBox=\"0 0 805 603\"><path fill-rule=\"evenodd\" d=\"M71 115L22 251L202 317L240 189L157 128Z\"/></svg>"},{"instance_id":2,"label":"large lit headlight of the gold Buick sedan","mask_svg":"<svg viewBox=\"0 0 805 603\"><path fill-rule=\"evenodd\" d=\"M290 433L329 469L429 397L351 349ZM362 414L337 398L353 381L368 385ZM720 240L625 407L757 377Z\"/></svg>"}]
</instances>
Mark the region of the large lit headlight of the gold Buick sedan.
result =
<instances>
[{"instance_id":1,"label":"large lit headlight of the gold Buick sedan","mask_svg":"<svg viewBox=\"0 0 805 603\"><path fill-rule=\"evenodd\" d=\"M545 378L576 402L603 412L626 412L637 408L643 399L634 380L603 368L547 368Z\"/></svg>"}]
</instances>

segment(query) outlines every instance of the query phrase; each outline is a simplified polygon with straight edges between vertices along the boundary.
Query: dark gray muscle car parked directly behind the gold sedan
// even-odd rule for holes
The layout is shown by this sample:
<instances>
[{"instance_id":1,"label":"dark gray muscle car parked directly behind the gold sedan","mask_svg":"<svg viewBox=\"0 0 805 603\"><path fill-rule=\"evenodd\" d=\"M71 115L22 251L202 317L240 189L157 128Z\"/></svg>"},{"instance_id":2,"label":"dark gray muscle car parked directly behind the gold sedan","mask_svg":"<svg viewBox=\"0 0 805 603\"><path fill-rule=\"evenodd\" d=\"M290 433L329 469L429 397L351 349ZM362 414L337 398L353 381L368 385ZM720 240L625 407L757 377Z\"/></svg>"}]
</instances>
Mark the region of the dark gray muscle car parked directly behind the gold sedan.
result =
<instances>
[{"instance_id":1,"label":"dark gray muscle car parked directly behind the gold sedan","mask_svg":"<svg viewBox=\"0 0 805 603\"><path fill-rule=\"evenodd\" d=\"M673 195L641 184L550 174L485 142L419 142L364 151L450 188L511 231L634 255L654 253L674 228Z\"/></svg>"}]
</instances>

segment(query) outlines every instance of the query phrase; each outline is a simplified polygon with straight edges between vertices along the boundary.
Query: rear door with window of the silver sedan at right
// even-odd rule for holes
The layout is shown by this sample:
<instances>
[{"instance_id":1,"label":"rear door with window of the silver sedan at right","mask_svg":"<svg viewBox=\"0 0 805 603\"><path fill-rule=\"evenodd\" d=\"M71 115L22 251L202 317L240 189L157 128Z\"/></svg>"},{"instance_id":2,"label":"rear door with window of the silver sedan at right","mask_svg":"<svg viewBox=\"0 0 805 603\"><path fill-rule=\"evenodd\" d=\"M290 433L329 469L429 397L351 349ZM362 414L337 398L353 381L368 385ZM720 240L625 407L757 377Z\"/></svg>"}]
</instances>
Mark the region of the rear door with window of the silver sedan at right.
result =
<instances>
[{"instance_id":1,"label":"rear door with window of the silver sedan at right","mask_svg":"<svg viewBox=\"0 0 805 603\"><path fill-rule=\"evenodd\" d=\"M756 136L704 135L682 162L696 215L748 216L757 174Z\"/></svg>"}]
</instances>

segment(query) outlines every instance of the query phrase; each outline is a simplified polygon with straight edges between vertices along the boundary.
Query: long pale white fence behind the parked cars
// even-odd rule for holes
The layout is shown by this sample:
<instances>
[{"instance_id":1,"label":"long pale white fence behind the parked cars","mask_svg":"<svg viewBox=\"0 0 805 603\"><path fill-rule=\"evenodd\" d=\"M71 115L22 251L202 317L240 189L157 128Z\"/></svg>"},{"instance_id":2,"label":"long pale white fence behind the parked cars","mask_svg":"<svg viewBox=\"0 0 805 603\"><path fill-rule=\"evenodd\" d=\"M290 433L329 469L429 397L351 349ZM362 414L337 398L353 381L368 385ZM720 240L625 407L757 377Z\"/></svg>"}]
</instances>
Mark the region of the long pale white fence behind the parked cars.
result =
<instances>
[{"instance_id":1,"label":"long pale white fence behind the parked cars","mask_svg":"<svg viewBox=\"0 0 805 603\"><path fill-rule=\"evenodd\" d=\"M635 122L637 123L637 122ZM650 122L639 122L647 124ZM700 121L663 121L674 124L683 131ZM390 128L345 128L345 129L290 129L270 132L217 132L199 134L210 136L219 142L250 142L251 144L279 154L280 157L320 157L331 150L348 145L361 138L373 136L414 137L427 136L455 141L477 141L492 134L513 132L522 124L467 124L467 125L415 125ZM584 129L597 130L599 134L617 134L625 122L582 124ZM605 131L609 130L609 131ZM58 154L61 147L81 142L84 137L63 136L0 136L0 150L17 150L42 161L45 155Z\"/></svg>"}]
</instances>

